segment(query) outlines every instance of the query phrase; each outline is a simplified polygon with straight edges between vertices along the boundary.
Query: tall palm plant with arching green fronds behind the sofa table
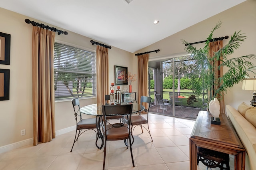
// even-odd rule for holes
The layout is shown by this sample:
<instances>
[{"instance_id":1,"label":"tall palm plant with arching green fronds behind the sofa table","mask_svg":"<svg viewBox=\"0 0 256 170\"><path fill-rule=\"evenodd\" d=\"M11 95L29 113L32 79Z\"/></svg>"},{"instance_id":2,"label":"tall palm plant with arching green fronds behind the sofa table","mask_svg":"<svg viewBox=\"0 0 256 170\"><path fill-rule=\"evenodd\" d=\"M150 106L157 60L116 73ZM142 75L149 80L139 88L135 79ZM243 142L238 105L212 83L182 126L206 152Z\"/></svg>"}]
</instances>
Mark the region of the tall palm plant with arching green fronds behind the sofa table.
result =
<instances>
[{"instance_id":1,"label":"tall palm plant with arching green fronds behind the sofa table","mask_svg":"<svg viewBox=\"0 0 256 170\"><path fill-rule=\"evenodd\" d=\"M192 58L195 60L195 67L192 73L189 74L191 79L192 90L199 96L202 93L205 94L203 99L209 105L210 101L214 98L221 99L222 94L226 93L228 89L232 88L235 84L240 83L245 77L248 77L248 72L254 70L256 67L248 60L256 59L256 55L244 55L241 57L230 58L228 57L234 53L234 49L240 47L240 43L244 42L246 36L239 32L235 32L231 36L230 41L216 51L213 57L208 57L209 43L212 42L213 33L216 29L220 28L222 22L218 22L213 28L212 32L206 39L204 48L196 49L188 42L183 40L186 44L185 50L187 53L191 53ZM222 61L219 66L214 63ZM216 70L220 70L221 67L227 68L226 73L221 77L215 75ZM218 87L217 89L214 88Z\"/></svg>"}]
</instances>

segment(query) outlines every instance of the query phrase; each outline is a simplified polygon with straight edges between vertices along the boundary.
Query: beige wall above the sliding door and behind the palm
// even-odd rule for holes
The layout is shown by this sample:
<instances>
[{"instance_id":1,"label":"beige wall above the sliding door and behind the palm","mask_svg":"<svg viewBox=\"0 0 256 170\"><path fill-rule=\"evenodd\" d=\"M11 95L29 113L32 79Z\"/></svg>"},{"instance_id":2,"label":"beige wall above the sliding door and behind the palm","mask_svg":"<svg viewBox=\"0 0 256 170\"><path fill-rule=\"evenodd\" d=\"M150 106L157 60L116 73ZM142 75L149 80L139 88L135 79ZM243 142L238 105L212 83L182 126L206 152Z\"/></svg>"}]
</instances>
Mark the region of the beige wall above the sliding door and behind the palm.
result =
<instances>
[{"instance_id":1,"label":"beige wall above the sliding door and behind the palm","mask_svg":"<svg viewBox=\"0 0 256 170\"><path fill-rule=\"evenodd\" d=\"M221 4L220 4L221 5ZM172 36L169 36L159 42L156 42L148 47L136 51L136 53L144 51L152 51L160 49L158 53L150 53L150 61L157 59L168 59L185 53L184 44L182 40L187 42L200 42L206 40L212 28L216 26L219 20L222 21L222 26L214 32L213 37L218 38L222 36L231 37L235 31L242 30L248 38L242 42L240 48L234 52L230 57L240 57L248 54L256 54L255 40L256 40L256 0L247 0L233 8L230 8L216 16L212 16L194 26L186 28ZM209 10L214 10L209 8ZM189 11L188 17L189 17ZM157 34L157 33L156 33ZM224 40L224 45L230 40ZM204 43L193 45L196 48L204 47ZM252 61L256 65L256 61ZM224 69L224 72L226 70ZM250 78L255 74L250 73ZM250 104L252 100L252 91L242 90L242 83L234 85L230 91L225 95L225 104L232 105L237 108L243 101Z\"/></svg>"}]
</instances>

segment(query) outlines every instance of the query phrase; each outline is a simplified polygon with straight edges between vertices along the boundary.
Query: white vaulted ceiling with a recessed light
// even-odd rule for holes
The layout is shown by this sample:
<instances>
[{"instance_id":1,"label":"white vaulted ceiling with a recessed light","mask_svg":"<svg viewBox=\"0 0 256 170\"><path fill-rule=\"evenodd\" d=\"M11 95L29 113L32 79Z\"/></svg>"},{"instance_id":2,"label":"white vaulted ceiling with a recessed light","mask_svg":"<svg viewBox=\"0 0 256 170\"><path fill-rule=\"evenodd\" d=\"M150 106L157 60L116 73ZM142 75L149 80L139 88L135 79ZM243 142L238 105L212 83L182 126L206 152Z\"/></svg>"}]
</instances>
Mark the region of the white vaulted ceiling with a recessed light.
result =
<instances>
[{"instance_id":1,"label":"white vaulted ceiling with a recessed light","mask_svg":"<svg viewBox=\"0 0 256 170\"><path fill-rule=\"evenodd\" d=\"M0 0L0 7L133 53L246 0L127 1Z\"/></svg>"}]
</instances>

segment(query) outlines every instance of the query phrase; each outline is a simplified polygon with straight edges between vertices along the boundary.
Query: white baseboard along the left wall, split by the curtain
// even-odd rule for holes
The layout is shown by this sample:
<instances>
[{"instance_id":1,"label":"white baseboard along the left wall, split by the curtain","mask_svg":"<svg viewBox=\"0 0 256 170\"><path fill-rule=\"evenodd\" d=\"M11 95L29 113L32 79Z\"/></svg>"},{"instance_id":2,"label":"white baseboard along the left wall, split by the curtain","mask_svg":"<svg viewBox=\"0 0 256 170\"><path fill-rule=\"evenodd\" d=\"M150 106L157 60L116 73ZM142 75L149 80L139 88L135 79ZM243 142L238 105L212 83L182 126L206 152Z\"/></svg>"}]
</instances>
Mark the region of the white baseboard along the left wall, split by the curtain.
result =
<instances>
[{"instance_id":1,"label":"white baseboard along the left wall, split by the curtain","mask_svg":"<svg viewBox=\"0 0 256 170\"><path fill-rule=\"evenodd\" d=\"M71 132L73 130L76 130L76 125L72 126L72 127L57 130L57 131L55 131L55 133L56 133L56 136L58 136L58 135L61 135L61 134L67 133L67 132ZM15 142L15 143L12 143L12 144L1 146L0 147L0 154L4 153L4 152L8 152L10 150L14 150L16 148L27 146L27 145L30 145L30 144L33 144L33 138L29 138L29 139L26 139L26 140L22 140L22 141L19 141L19 142Z\"/></svg>"}]
</instances>

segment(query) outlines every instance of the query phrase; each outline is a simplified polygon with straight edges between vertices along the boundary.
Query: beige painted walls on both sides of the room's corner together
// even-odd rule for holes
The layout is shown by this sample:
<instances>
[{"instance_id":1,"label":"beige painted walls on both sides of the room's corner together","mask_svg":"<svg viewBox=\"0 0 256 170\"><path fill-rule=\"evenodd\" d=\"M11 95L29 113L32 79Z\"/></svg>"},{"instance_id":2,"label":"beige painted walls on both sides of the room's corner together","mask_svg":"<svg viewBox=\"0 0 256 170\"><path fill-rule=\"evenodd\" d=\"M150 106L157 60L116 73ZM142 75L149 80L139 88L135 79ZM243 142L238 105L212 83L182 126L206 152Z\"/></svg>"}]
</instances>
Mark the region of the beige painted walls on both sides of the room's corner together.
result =
<instances>
[{"instance_id":1,"label":"beige painted walls on both sides of the room's corner together","mask_svg":"<svg viewBox=\"0 0 256 170\"><path fill-rule=\"evenodd\" d=\"M221 4L220 4L221 5ZM135 53L160 49L158 53L150 53L150 59L169 58L184 54L184 44L205 40L216 25L222 20L222 26L214 37L232 36L237 30L242 30L248 36L246 42L236 50L232 57L256 54L256 0L247 0L238 6L230 8L216 16L191 26L164 40L156 42ZM210 9L209 10L214 10ZM189 11L188 17L189 17ZM33 137L32 129L32 59L31 40L32 25L26 24L26 16L0 8L0 32L11 34L11 61L10 65L0 65L2 69L10 69L10 100L0 101L0 148L27 140ZM33 18L28 18L34 20ZM35 20L36 22L40 22ZM43 22L40 22L43 23ZM47 24L47 23L44 23ZM50 24L49 24L50 25ZM53 25L50 25L53 26ZM65 30L64 28L58 28ZM66 30L68 31L68 30ZM157 33L156 33L157 34ZM90 38L68 31L68 36L56 35L56 40L73 43L89 49L96 50L96 46L90 43ZM97 40L96 40L97 41ZM224 44L227 40L224 40ZM197 44L196 47L202 47ZM127 51L112 47L109 50L109 77L110 83L114 82L114 65L128 67L128 71L137 73L137 57ZM256 61L253 61L256 63ZM251 77L254 75L251 74ZM123 86L124 87L124 86ZM237 107L242 101L250 103L252 93L242 91L242 84L235 85L225 96L226 104ZM137 82L133 83L133 91L137 91ZM81 105L96 103L96 98L85 99ZM72 104L70 101L55 103L56 130L74 126ZM26 135L20 136L20 130L26 129Z\"/></svg>"}]
</instances>

